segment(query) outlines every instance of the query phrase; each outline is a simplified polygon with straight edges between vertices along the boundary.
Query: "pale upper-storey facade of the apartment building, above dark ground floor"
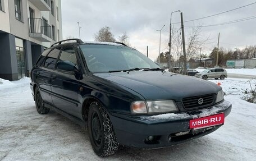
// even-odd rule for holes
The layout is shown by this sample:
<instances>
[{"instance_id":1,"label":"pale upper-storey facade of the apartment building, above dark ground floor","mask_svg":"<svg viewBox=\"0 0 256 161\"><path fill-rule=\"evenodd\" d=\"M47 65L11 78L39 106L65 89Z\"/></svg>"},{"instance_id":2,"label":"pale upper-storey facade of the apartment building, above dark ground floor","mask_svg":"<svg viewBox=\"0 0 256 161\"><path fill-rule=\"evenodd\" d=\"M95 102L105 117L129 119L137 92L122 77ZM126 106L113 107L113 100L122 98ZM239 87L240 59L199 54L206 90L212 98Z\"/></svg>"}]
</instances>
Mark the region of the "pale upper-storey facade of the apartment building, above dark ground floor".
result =
<instances>
[{"instance_id":1,"label":"pale upper-storey facade of the apartment building, above dark ground floor","mask_svg":"<svg viewBox=\"0 0 256 161\"><path fill-rule=\"evenodd\" d=\"M0 1L2 4L1 31L44 47L49 47L56 41L62 40L61 0ZM17 2L20 3L20 20L16 17Z\"/></svg>"}]
</instances>

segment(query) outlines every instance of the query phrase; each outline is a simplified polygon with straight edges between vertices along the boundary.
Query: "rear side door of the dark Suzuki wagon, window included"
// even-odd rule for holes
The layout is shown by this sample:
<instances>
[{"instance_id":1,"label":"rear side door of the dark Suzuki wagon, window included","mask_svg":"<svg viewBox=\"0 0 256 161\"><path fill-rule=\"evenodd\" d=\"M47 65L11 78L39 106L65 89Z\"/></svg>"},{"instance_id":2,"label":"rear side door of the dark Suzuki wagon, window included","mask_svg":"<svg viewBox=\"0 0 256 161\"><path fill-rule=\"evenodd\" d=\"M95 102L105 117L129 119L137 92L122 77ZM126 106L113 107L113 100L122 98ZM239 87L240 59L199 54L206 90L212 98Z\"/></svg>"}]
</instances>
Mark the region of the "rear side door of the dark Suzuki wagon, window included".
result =
<instances>
[{"instance_id":1,"label":"rear side door of the dark Suzuki wagon, window included","mask_svg":"<svg viewBox=\"0 0 256 161\"><path fill-rule=\"evenodd\" d=\"M40 94L44 102L52 104L51 96L51 81L52 70L56 65L58 55L60 54L60 47L53 48L45 57L42 65L35 71L36 82L38 82Z\"/></svg>"}]
</instances>

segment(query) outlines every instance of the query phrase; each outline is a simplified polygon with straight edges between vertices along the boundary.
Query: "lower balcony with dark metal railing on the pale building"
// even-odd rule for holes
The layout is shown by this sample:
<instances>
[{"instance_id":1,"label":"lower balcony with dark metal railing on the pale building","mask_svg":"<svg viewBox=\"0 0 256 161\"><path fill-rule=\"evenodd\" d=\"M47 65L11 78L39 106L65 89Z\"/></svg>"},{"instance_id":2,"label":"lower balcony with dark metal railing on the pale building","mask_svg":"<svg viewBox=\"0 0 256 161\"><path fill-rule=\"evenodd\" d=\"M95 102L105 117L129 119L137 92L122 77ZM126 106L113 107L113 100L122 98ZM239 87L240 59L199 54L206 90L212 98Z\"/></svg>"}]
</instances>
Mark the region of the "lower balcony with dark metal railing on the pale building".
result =
<instances>
[{"instance_id":1,"label":"lower balcony with dark metal railing on the pale building","mask_svg":"<svg viewBox=\"0 0 256 161\"><path fill-rule=\"evenodd\" d=\"M40 18L29 18L29 36L40 42L52 42L51 26Z\"/></svg>"}]
</instances>

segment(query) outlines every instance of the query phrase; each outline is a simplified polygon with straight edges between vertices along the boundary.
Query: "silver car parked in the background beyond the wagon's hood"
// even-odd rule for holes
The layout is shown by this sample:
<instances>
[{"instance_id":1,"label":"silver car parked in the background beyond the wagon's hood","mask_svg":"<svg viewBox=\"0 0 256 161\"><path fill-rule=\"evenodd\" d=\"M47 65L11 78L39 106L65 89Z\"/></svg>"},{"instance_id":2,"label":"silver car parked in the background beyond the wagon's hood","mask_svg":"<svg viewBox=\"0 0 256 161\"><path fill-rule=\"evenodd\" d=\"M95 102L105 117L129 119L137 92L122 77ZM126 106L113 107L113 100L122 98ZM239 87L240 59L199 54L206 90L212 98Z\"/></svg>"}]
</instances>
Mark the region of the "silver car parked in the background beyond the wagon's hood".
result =
<instances>
[{"instance_id":1,"label":"silver car parked in the background beyond the wagon's hood","mask_svg":"<svg viewBox=\"0 0 256 161\"><path fill-rule=\"evenodd\" d=\"M225 79L227 78L227 71L225 68L208 68L203 72L196 73L195 77L207 80L207 79Z\"/></svg>"}]
</instances>

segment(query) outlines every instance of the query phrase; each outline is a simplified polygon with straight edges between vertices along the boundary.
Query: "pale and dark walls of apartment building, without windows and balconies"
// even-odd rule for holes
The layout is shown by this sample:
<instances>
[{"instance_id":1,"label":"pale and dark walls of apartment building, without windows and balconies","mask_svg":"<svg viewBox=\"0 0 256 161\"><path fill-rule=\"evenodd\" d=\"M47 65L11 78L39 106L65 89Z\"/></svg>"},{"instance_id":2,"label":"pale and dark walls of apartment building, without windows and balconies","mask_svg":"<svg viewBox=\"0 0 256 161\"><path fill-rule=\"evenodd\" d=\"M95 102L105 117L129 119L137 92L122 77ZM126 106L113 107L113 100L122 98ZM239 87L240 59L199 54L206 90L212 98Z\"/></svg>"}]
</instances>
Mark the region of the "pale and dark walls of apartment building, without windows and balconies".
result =
<instances>
[{"instance_id":1,"label":"pale and dark walls of apartment building, without windows and balconies","mask_svg":"<svg viewBox=\"0 0 256 161\"><path fill-rule=\"evenodd\" d=\"M43 0L20 0L21 1L21 21L16 19L15 15L15 0L0 0L2 2L2 10L0 11L0 78L7 80L18 79L18 63L16 54L15 37L22 39L24 44L25 54L25 72L26 76L30 76L29 72L34 66L40 54L45 47L50 47L51 44L58 40L62 40L62 16L61 16L61 0L54 1L54 16L49 10L49 6L42 6ZM40 3L43 2L43 3ZM36 7L38 6L38 8ZM32 37L29 25L29 7L34 10L34 18L44 17L50 26L55 27L55 40L51 38ZM43 8L42 8L43 7ZM58 7L58 20L57 20L57 7ZM41 10L39 8L42 8ZM46 9L45 9L46 8ZM42 11L45 10L45 11ZM40 28L40 26L39 26ZM58 36L59 30L59 36ZM52 31L52 29L51 29ZM49 40L51 42L44 42ZM20 57L19 57L20 58ZM20 61L19 61L20 62ZM24 61L23 61L24 62ZM22 68L23 70L24 68ZM22 72L24 73L24 72Z\"/></svg>"}]
</instances>

